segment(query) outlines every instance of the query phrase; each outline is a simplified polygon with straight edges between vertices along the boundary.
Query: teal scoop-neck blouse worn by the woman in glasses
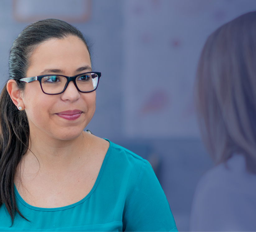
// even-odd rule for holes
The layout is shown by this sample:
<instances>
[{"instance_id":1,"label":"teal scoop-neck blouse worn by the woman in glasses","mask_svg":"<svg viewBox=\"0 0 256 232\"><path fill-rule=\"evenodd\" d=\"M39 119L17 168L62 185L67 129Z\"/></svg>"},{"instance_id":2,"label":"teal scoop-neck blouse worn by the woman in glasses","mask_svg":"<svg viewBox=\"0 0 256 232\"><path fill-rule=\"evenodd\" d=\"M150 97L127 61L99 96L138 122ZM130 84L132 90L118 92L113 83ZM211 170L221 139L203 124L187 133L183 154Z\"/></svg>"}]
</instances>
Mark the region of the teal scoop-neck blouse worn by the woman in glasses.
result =
<instances>
[{"instance_id":1,"label":"teal scoop-neck blouse worn by the woman in glasses","mask_svg":"<svg viewBox=\"0 0 256 232\"><path fill-rule=\"evenodd\" d=\"M147 160L109 142L93 188L72 205L39 208L27 204L15 188L22 215L14 224L0 207L2 232L176 232L165 194Z\"/></svg>"}]
</instances>

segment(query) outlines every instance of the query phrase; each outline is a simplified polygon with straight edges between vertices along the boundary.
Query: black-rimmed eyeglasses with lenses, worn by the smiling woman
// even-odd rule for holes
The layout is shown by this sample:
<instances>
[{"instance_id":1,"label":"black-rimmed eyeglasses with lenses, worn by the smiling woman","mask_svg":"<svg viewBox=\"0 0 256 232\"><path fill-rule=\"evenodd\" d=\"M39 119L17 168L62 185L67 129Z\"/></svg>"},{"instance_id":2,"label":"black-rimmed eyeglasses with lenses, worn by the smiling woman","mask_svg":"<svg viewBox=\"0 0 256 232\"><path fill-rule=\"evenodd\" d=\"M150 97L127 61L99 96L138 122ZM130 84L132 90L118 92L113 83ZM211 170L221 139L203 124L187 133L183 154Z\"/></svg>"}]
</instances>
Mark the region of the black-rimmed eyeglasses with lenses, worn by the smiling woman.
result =
<instances>
[{"instance_id":1,"label":"black-rimmed eyeglasses with lenses, worn by the smiling woman","mask_svg":"<svg viewBox=\"0 0 256 232\"><path fill-rule=\"evenodd\" d=\"M39 81L42 91L45 94L56 95L63 93L70 81L74 82L77 90L82 93L89 93L97 89L101 72L85 72L74 77L67 77L63 75L41 75L36 77L26 77L19 81L31 82Z\"/></svg>"}]
</instances>

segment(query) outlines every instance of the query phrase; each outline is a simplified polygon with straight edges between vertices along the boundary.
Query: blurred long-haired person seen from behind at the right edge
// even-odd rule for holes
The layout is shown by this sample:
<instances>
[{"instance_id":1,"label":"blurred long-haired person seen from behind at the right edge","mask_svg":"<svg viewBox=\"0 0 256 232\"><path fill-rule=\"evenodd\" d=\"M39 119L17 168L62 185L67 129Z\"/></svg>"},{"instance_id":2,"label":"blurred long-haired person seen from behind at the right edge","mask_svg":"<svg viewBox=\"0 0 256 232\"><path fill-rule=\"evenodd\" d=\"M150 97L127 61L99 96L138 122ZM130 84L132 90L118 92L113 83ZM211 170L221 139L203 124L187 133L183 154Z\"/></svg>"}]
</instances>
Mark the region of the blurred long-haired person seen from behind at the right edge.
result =
<instances>
[{"instance_id":1,"label":"blurred long-haired person seen from behind at the right edge","mask_svg":"<svg viewBox=\"0 0 256 232\"><path fill-rule=\"evenodd\" d=\"M196 77L202 138L217 164L198 183L191 232L256 228L256 12L206 41Z\"/></svg>"}]
</instances>

